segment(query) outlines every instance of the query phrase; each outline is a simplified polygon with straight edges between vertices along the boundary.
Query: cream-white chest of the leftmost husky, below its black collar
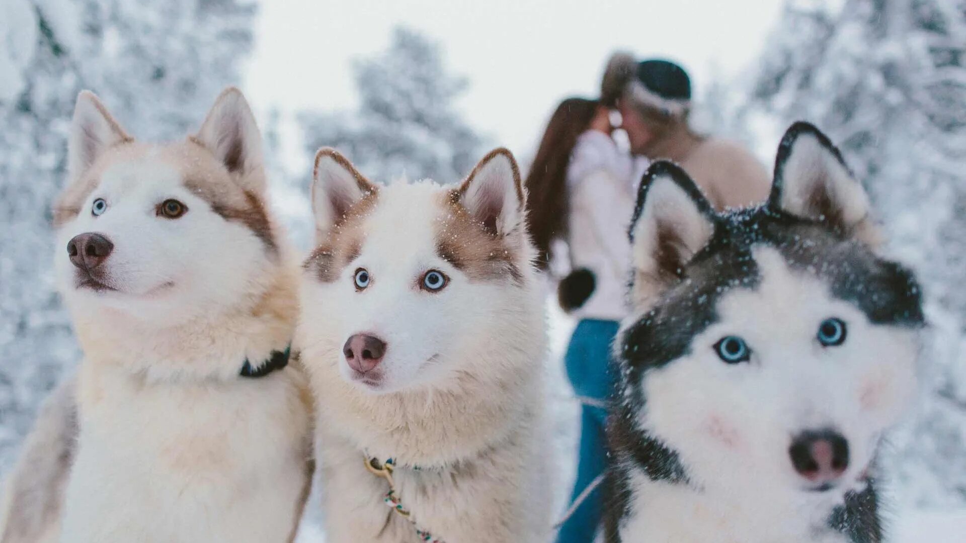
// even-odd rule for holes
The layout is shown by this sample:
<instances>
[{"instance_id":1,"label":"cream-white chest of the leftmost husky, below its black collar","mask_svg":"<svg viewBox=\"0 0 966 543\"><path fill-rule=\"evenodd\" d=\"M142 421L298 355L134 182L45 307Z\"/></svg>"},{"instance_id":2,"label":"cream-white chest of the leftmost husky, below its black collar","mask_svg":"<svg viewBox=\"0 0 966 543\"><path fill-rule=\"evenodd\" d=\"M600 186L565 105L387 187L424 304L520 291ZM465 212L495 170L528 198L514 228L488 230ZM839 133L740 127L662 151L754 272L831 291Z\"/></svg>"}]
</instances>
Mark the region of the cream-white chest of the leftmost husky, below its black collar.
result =
<instances>
[{"instance_id":1,"label":"cream-white chest of the leftmost husky, below its black collar","mask_svg":"<svg viewBox=\"0 0 966 543\"><path fill-rule=\"evenodd\" d=\"M81 370L62 541L287 541L305 489L298 375L146 385Z\"/></svg>"}]
</instances>

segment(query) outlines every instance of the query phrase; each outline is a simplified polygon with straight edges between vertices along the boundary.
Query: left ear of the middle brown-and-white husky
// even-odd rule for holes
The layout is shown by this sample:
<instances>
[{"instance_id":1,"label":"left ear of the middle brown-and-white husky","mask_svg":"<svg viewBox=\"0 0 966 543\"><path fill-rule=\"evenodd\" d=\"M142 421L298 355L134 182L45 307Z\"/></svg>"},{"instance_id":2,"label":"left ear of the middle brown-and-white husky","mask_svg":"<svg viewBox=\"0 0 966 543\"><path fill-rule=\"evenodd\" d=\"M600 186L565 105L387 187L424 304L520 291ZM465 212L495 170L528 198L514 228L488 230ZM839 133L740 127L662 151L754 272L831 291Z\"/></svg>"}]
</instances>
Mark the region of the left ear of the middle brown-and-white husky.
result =
<instances>
[{"instance_id":1,"label":"left ear of the middle brown-and-white husky","mask_svg":"<svg viewBox=\"0 0 966 543\"><path fill-rule=\"evenodd\" d=\"M312 169L312 213L315 214L316 241L321 242L359 200L377 191L376 186L362 177L348 158L330 147L320 149L315 154Z\"/></svg>"}]
</instances>

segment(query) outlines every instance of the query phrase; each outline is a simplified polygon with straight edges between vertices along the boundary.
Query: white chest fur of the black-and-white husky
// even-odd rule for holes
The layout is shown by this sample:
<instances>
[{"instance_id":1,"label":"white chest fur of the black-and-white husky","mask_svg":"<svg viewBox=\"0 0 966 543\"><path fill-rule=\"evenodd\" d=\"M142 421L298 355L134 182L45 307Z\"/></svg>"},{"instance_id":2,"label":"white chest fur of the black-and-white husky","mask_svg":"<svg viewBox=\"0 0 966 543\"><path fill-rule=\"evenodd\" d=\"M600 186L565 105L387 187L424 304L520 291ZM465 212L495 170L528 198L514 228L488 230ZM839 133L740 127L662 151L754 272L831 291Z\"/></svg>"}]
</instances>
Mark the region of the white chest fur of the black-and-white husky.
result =
<instances>
[{"instance_id":1,"label":"white chest fur of the black-and-white husky","mask_svg":"<svg viewBox=\"0 0 966 543\"><path fill-rule=\"evenodd\" d=\"M697 491L685 484L631 476L629 514L620 525L623 543L846 543L828 529L825 516L789 496L732 489ZM768 496L764 496L768 495Z\"/></svg>"}]
</instances>

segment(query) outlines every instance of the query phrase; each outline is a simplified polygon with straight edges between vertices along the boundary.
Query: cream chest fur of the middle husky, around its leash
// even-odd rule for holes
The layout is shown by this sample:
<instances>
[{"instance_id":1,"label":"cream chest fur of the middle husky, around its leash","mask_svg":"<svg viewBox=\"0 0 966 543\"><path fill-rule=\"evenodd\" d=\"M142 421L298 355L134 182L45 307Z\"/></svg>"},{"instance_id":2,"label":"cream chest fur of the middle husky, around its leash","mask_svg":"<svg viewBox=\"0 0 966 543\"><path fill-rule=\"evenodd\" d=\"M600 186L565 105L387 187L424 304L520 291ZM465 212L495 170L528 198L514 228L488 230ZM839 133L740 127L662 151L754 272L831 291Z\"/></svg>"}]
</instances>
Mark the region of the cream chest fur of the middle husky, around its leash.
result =
<instances>
[{"instance_id":1,"label":"cream chest fur of the middle husky, around its leash","mask_svg":"<svg viewBox=\"0 0 966 543\"><path fill-rule=\"evenodd\" d=\"M414 525L384 504L388 483L364 467L359 450L324 433L318 444L325 487L327 538L332 541L422 541L423 529L445 541L543 541L550 533L547 467L525 425L500 443L457 466L400 466L396 496Z\"/></svg>"}]
</instances>

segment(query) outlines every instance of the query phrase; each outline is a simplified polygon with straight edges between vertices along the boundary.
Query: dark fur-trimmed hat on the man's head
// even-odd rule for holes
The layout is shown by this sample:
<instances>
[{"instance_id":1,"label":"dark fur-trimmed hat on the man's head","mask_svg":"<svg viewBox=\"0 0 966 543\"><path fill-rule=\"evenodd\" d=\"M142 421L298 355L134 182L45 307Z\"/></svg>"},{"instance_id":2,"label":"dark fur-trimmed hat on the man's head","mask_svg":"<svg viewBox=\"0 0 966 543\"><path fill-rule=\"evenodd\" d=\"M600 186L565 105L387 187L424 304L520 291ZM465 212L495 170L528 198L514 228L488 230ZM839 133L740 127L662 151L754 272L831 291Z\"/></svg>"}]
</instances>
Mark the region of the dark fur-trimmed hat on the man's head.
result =
<instances>
[{"instance_id":1,"label":"dark fur-trimmed hat on the man's head","mask_svg":"<svg viewBox=\"0 0 966 543\"><path fill-rule=\"evenodd\" d=\"M601 82L601 102L613 106L626 98L640 107L681 115L691 108L691 78L673 62L637 62L628 53L611 56Z\"/></svg>"}]
</instances>

